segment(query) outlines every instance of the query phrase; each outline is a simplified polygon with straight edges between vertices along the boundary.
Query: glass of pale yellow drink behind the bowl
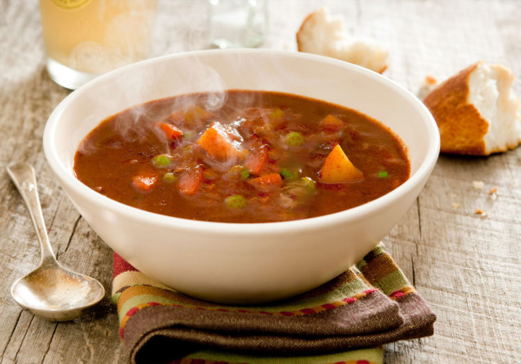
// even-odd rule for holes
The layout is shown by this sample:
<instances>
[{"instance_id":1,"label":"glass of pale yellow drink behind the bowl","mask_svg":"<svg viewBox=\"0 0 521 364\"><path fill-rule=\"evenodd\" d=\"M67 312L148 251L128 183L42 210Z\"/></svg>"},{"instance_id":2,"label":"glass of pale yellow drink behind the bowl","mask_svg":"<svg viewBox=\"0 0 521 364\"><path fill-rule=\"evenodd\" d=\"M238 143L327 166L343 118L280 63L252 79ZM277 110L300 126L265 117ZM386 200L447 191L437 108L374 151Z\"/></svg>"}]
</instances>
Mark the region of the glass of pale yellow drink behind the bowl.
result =
<instances>
[{"instance_id":1,"label":"glass of pale yellow drink behind the bowl","mask_svg":"<svg viewBox=\"0 0 521 364\"><path fill-rule=\"evenodd\" d=\"M47 56L93 74L143 60L150 53L156 2L40 0Z\"/></svg>"}]
</instances>

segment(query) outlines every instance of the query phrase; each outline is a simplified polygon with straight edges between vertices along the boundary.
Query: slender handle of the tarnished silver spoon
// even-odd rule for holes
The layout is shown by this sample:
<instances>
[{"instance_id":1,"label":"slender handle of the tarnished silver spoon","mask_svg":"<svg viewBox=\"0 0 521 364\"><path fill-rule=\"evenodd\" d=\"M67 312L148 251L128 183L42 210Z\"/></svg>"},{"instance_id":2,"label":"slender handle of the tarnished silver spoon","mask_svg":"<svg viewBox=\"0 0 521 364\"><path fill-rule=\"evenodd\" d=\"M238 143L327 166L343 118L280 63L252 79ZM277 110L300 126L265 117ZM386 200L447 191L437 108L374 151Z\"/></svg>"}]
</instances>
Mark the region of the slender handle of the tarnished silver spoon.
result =
<instances>
[{"instance_id":1,"label":"slender handle of the tarnished silver spoon","mask_svg":"<svg viewBox=\"0 0 521 364\"><path fill-rule=\"evenodd\" d=\"M42 262L49 259L56 260L51 244L49 243L49 237L47 236L45 221L43 220L34 168L29 163L12 163L8 166L7 171L9 177L11 177L14 185L16 185L16 188L18 188L22 195L27 210L29 210L29 215L31 215L34 229L36 229L36 236L40 242Z\"/></svg>"}]
</instances>

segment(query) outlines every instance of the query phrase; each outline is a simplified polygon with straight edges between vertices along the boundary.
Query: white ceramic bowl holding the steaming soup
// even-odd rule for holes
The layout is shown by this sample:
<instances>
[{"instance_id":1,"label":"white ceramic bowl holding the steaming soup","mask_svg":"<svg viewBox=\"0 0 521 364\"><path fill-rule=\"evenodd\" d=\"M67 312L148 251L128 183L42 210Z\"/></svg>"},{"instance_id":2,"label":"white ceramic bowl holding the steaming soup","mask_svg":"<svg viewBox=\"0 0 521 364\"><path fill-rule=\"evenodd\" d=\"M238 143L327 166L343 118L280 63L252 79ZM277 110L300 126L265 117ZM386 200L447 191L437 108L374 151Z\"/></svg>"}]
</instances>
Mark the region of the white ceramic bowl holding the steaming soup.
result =
<instances>
[{"instance_id":1,"label":"white ceramic bowl holding the steaming soup","mask_svg":"<svg viewBox=\"0 0 521 364\"><path fill-rule=\"evenodd\" d=\"M409 148L411 178L353 209L264 224L153 214L113 201L75 179L75 150L101 120L149 100L221 89L295 93L374 117ZM240 49L173 54L107 73L58 105L45 126L43 144L80 214L136 269L194 297L253 303L302 293L363 258L422 190L437 160L439 134L422 102L378 73L311 54Z\"/></svg>"}]
</instances>

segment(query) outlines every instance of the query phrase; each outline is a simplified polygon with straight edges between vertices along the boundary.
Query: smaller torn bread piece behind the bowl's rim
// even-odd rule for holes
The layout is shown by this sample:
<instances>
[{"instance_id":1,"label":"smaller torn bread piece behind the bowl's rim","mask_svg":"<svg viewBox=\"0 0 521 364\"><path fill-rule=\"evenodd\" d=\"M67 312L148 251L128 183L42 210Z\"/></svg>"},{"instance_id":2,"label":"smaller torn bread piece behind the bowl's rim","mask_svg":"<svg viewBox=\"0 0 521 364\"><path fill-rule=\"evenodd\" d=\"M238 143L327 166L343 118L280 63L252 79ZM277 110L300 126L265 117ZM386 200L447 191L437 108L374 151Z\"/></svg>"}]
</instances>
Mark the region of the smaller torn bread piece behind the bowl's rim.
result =
<instances>
[{"instance_id":1,"label":"smaller torn bread piece behind the bowl's rim","mask_svg":"<svg viewBox=\"0 0 521 364\"><path fill-rule=\"evenodd\" d=\"M341 16L330 16L326 8L309 14L297 33L300 52L320 54L354 63L382 73L389 52L381 45L354 40L344 31Z\"/></svg>"}]
</instances>

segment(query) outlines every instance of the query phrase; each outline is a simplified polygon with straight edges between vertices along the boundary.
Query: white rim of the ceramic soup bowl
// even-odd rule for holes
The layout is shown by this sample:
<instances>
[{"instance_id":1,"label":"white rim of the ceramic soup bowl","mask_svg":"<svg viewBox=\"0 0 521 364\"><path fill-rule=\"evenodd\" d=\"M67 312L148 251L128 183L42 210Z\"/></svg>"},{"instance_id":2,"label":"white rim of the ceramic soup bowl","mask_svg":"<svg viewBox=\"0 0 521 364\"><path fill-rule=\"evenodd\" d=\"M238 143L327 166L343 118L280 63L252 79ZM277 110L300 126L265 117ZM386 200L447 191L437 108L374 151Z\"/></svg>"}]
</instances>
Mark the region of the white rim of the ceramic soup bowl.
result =
<instances>
[{"instance_id":1,"label":"white rim of the ceramic soup bowl","mask_svg":"<svg viewBox=\"0 0 521 364\"><path fill-rule=\"evenodd\" d=\"M426 152L426 157L420 163L419 168L411 174L409 179L402 183L402 185L396 187L396 189L387 192L383 196L380 196L372 201L364 203L363 205L359 205L356 207L352 207L350 209L343 210L341 212L335 212L333 214L317 216L313 218L304 218L300 220L290 220L290 221L280 221L273 223L218 223L213 221L202 221L202 220L191 220L186 218L177 218L173 216L167 216L162 214L157 214L154 212L148 212L143 209L138 209L137 207L132 207L130 205L125 205L120 203L119 201L112 200L112 198L108 198L102 194L95 192L90 189L87 185L84 185L78 179L73 177L73 174L70 173L67 168L64 168L63 163L60 161L60 157L58 156L58 152L55 148L53 148L55 140L56 140L56 128L58 127L58 121L60 120L60 115L64 112L64 110L69 107L71 103L74 102L75 98L84 93L86 90L96 87L97 84L101 84L105 82L106 79L112 78L113 76L117 76L119 73L128 72L132 68L143 67L143 65L153 65L156 62L164 62L165 60L175 60L175 58L184 58L190 56L206 56L208 54L265 54L267 56L284 56L290 58L308 58L310 60L315 60L319 62L323 62L325 64L337 65L341 67L346 67L347 69L351 69L352 71L356 71L358 73L362 73L364 76L372 78L382 84L385 84L387 87L390 87L393 91L398 92L403 98L407 99L411 106L417 109L417 112L420 115L423 115L422 122L426 126L426 130L428 133L428 150ZM146 100L145 100L146 101ZM143 102L145 102L143 101ZM130 106L128 106L130 107ZM415 185L418 185L424 181L431 173L438 155L439 155L439 130L437 128L437 124L434 120L434 117L431 115L431 112L428 111L426 106L419 100L413 93L400 86L400 84L386 78L385 76L380 75L380 73L376 73L369 69L365 69L364 67L360 67L358 65L353 65L352 63L344 62L342 60L337 60L335 58L329 58L326 56L319 56L316 54L308 54L301 52L291 52L291 51L281 51L274 49L204 49L193 52L182 52L177 54L169 54L165 56L160 56L156 58L149 58L147 60L142 60L140 62L133 63L131 65L127 65L125 67L121 67L119 69L114 69L108 73L105 73L101 76L98 76L94 80L87 82L82 85L72 93L66 96L56 109L53 110L51 115L45 124L45 129L43 132L43 149L45 153L45 157L47 158L47 162L51 169L57 176L59 177L62 183L65 183L67 187L71 188L77 194L80 194L83 198L86 198L90 201L93 201L96 205L108 209L109 211L117 210L119 214L123 214L127 218L144 220L145 223L150 223L152 225L158 225L160 227L176 227L181 230L197 230L204 229L208 233L214 234L240 234L240 235L258 235L258 234L291 234L294 231L311 231L316 229L317 227L328 227L330 225L337 225L341 223L346 223L348 221L356 221L365 218L370 214L373 214L378 209L384 208L386 205L391 203L396 203L402 196L407 194L411 188ZM60 178L61 177L61 178Z\"/></svg>"}]
</instances>

